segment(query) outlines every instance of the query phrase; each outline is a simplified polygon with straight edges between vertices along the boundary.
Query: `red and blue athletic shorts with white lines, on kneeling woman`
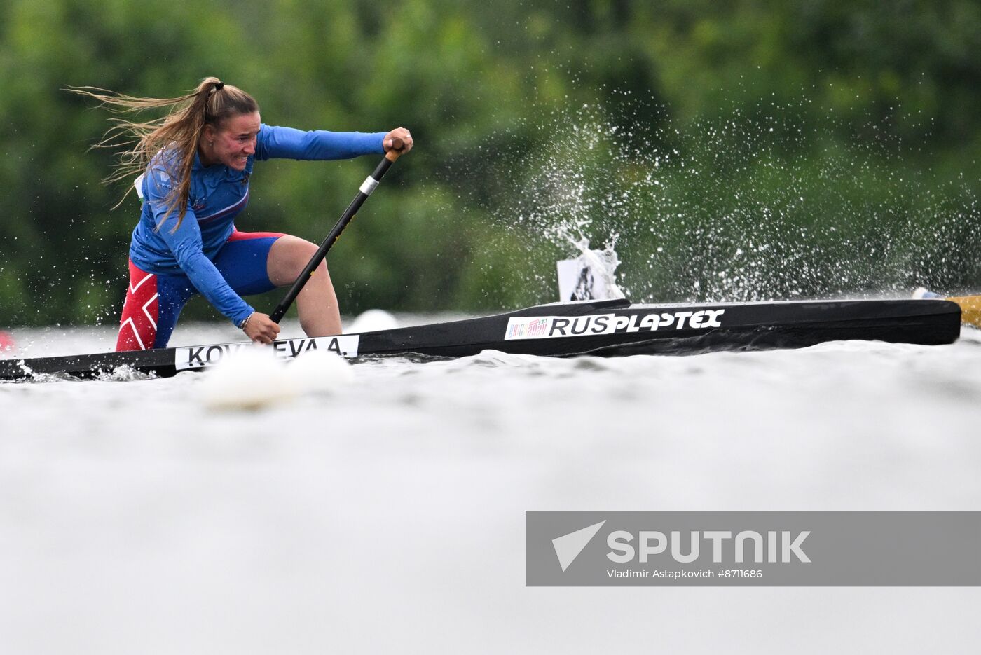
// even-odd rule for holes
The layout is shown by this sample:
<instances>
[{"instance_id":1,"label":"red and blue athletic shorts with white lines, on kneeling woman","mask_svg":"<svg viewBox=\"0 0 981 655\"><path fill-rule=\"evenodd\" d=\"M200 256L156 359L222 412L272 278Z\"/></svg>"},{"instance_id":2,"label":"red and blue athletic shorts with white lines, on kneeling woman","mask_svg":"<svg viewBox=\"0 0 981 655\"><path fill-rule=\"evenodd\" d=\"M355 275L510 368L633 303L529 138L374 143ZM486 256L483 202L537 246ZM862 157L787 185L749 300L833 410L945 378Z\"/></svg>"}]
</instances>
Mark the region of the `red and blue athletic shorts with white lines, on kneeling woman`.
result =
<instances>
[{"instance_id":1,"label":"red and blue athletic shorts with white lines, on kneeling woman","mask_svg":"<svg viewBox=\"0 0 981 655\"><path fill-rule=\"evenodd\" d=\"M246 296L276 288L269 279L269 250L281 236L278 232L232 232L214 264L235 293ZM146 273L130 261L116 351L166 348L181 309L197 292L186 276Z\"/></svg>"}]
</instances>

